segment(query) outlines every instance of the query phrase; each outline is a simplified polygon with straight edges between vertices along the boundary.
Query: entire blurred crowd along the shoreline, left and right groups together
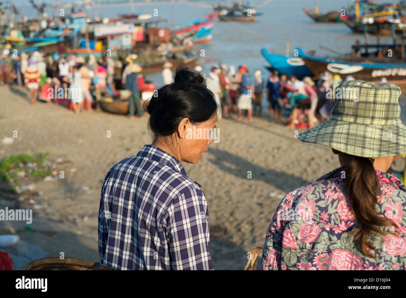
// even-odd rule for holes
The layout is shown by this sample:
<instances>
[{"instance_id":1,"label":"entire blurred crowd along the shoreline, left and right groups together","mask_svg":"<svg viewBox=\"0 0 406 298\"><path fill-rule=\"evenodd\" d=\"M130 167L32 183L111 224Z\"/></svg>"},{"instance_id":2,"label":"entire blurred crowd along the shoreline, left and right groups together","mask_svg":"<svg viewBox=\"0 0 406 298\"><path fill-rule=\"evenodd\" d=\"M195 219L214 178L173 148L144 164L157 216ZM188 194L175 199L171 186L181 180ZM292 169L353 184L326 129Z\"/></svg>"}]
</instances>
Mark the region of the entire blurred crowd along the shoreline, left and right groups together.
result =
<instances>
[{"instance_id":1,"label":"entire blurred crowd along the shoreline, left and right groups together","mask_svg":"<svg viewBox=\"0 0 406 298\"><path fill-rule=\"evenodd\" d=\"M115 62L111 57L104 55L97 60L92 54L85 59L83 56L66 54L49 54L33 52L30 56L22 53L12 58L11 75L13 83L26 86L30 90L31 103L37 98L42 101L58 103L61 99L69 99L72 109L80 113L85 109L93 111L95 101L103 96L114 96L117 81L114 80L116 70L114 65L121 64L121 86L117 89L126 89L129 97L130 118L145 118L143 102L140 92L145 84L140 75L141 67L134 63L137 55L131 54ZM0 62L4 67L4 60ZM171 62L163 64L162 77L164 84L173 82L173 65ZM196 66L194 71L202 73L201 66ZM6 71L3 71L6 73ZM134 75L132 75L134 73ZM260 70L255 70L253 78L246 65L238 69L225 64L214 64L207 74L207 88L215 96L221 109L218 112L222 117L235 120L252 116L269 115L272 120L286 124L292 128L312 128L318 123L328 120L334 106L334 98L328 98L326 93L335 88L343 80L339 75L332 75L329 71L320 74L317 84L310 77L299 79L294 75L279 74L274 71L263 79ZM127 80L127 78L129 78ZM354 79L347 76L346 80ZM4 75L4 82L7 77ZM266 101L263 101L263 99ZM86 106L85 106L85 103ZM267 106L266 113L263 109Z\"/></svg>"}]
</instances>

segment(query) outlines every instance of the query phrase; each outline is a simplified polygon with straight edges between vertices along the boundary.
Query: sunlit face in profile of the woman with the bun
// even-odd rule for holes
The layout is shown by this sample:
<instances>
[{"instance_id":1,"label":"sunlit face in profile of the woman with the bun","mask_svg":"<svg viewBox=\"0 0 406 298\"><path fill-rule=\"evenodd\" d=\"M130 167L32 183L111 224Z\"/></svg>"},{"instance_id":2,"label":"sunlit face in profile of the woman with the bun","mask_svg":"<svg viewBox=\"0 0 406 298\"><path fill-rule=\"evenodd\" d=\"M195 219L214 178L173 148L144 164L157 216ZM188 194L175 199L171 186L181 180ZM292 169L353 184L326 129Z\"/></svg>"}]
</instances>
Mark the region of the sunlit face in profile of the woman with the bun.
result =
<instances>
[{"instance_id":1,"label":"sunlit face in profile of the woman with the bun","mask_svg":"<svg viewBox=\"0 0 406 298\"><path fill-rule=\"evenodd\" d=\"M182 160L187 163L197 163L203 157L203 152L207 151L207 145L212 143L212 131L217 124L217 113L209 120L194 125L189 122L186 129L185 140L181 146Z\"/></svg>"}]
</instances>

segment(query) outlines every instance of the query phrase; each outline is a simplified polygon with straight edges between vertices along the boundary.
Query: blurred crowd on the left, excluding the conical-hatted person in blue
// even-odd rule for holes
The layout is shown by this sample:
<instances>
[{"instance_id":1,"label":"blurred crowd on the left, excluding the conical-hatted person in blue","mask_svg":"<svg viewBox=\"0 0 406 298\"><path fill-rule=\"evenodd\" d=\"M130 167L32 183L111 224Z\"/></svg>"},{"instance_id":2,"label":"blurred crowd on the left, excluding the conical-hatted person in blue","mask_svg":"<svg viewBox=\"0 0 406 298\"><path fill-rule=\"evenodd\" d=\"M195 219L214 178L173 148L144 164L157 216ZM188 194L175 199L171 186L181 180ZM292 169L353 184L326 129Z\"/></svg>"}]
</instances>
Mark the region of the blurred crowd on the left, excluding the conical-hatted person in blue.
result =
<instances>
[{"instance_id":1,"label":"blurred crowd on the left, excluding the conical-hatted person in blue","mask_svg":"<svg viewBox=\"0 0 406 298\"><path fill-rule=\"evenodd\" d=\"M47 101L58 104L61 99L70 99L73 110L80 113L84 109L93 111L91 87L96 99L102 94L113 92L114 62L104 56L96 60L93 55L82 56L33 52L22 53L11 60L13 84L30 90L32 104ZM5 81L7 83L7 81Z\"/></svg>"}]
</instances>

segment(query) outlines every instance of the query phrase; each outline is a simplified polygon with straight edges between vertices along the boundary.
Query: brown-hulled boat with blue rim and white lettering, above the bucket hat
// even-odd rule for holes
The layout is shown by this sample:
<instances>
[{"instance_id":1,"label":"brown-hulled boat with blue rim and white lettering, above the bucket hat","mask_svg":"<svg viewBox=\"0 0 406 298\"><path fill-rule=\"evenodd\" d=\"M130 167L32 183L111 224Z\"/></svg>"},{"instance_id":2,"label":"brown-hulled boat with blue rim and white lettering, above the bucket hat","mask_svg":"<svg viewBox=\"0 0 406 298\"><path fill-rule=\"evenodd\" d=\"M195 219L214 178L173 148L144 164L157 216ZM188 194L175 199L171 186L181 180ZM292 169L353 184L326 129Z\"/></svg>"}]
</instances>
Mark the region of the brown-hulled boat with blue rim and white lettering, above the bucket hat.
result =
<instances>
[{"instance_id":1,"label":"brown-hulled boat with blue rim and white lettering, above the bucket hat","mask_svg":"<svg viewBox=\"0 0 406 298\"><path fill-rule=\"evenodd\" d=\"M363 81L380 81L382 77L386 77L388 81L406 83L406 63L404 60L397 60L399 62L392 63L349 62L306 56L301 49L298 49L298 53L307 68L315 75L328 70L341 76L352 75L355 79Z\"/></svg>"}]
</instances>

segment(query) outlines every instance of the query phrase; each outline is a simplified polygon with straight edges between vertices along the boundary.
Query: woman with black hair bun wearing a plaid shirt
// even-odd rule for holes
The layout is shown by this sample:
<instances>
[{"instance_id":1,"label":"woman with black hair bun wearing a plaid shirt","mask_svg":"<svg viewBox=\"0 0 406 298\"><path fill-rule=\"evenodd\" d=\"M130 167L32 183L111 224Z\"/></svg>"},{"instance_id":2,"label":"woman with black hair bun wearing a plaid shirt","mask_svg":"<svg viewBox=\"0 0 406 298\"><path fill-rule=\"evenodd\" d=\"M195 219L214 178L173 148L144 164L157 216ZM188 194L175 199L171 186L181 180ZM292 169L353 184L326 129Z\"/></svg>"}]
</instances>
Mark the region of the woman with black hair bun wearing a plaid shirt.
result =
<instances>
[{"instance_id":1,"label":"woman with black hair bun wearing a plaid shirt","mask_svg":"<svg viewBox=\"0 0 406 298\"><path fill-rule=\"evenodd\" d=\"M152 144L104 180L100 258L121 270L213 270L205 194L181 162L203 157L219 107L204 77L184 66L157 93L147 106Z\"/></svg>"}]
</instances>

